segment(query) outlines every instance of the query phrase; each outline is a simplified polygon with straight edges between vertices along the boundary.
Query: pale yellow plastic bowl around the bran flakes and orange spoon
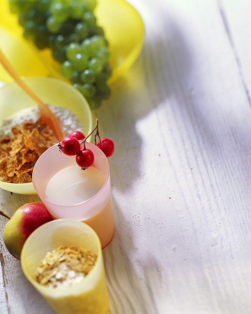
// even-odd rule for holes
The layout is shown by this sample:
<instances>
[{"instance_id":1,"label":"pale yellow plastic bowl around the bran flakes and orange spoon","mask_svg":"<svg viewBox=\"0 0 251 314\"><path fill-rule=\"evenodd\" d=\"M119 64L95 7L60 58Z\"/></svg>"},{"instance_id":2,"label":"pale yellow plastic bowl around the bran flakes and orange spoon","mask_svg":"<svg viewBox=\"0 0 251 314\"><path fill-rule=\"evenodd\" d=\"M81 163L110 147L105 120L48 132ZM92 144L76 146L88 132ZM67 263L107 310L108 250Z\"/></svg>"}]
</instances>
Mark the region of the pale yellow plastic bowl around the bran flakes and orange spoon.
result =
<instances>
[{"instance_id":1,"label":"pale yellow plastic bowl around the bran flakes and orange spoon","mask_svg":"<svg viewBox=\"0 0 251 314\"><path fill-rule=\"evenodd\" d=\"M92 129L90 107L82 94L71 85L55 78L25 78L25 83L45 102L65 107L73 111L80 119L85 134ZM0 126L4 119L27 107L36 106L16 83L10 83L0 89ZM42 178L41 178L42 180ZM0 181L0 188L18 194L36 194L31 183L7 183Z\"/></svg>"}]
</instances>

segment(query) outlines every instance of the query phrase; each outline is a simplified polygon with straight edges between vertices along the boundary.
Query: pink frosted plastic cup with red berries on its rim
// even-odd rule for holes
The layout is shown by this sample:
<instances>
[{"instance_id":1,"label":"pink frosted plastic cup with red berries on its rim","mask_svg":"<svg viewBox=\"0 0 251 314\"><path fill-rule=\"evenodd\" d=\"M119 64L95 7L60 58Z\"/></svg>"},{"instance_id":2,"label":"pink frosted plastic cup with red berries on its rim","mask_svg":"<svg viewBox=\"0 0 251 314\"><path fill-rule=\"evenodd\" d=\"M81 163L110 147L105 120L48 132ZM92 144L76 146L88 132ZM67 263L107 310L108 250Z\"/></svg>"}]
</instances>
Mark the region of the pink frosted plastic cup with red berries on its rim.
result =
<instances>
[{"instance_id":1,"label":"pink frosted plastic cup with red berries on its rim","mask_svg":"<svg viewBox=\"0 0 251 314\"><path fill-rule=\"evenodd\" d=\"M85 222L95 230L102 248L105 248L114 235L110 168L106 155L101 149L91 143L85 145L94 154L93 166L106 177L104 185L92 198L70 206L57 205L45 198L46 187L51 178L58 171L76 165L75 156L60 153L57 145L47 149L39 157L33 169L32 181L35 191L54 219L68 218Z\"/></svg>"}]
</instances>

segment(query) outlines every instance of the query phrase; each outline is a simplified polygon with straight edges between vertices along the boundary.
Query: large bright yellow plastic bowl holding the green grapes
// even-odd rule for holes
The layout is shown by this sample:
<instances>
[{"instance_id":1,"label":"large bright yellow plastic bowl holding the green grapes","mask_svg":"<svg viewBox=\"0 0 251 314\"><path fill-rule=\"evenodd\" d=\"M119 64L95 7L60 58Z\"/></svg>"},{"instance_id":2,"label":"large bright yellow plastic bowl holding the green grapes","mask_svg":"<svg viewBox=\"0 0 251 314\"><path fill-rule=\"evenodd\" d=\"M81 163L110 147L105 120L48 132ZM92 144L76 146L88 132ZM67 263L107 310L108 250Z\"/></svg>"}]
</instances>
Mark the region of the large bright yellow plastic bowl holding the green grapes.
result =
<instances>
[{"instance_id":1,"label":"large bright yellow plastic bowl holding the green grapes","mask_svg":"<svg viewBox=\"0 0 251 314\"><path fill-rule=\"evenodd\" d=\"M0 47L11 60L19 75L53 76L66 80L60 73L60 64L52 57L50 49L38 50L26 41L17 14L9 11L8 0L0 0ZM95 10L98 24L104 29L111 51L113 69L111 84L134 63L142 48L144 25L139 13L125 0L98 0ZM12 78L0 65L0 80Z\"/></svg>"}]
</instances>

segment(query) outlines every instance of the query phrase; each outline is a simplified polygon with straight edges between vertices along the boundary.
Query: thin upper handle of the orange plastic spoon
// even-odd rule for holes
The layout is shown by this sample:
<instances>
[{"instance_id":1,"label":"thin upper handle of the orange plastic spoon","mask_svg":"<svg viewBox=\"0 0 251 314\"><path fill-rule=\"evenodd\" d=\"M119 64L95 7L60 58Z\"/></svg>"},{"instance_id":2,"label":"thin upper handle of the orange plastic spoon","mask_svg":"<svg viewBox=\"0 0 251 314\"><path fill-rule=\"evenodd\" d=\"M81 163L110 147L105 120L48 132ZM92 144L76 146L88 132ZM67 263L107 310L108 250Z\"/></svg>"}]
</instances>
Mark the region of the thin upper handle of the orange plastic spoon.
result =
<instances>
[{"instance_id":1,"label":"thin upper handle of the orange plastic spoon","mask_svg":"<svg viewBox=\"0 0 251 314\"><path fill-rule=\"evenodd\" d=\"M6 71L14 78L19 86L38 104L38 106L46 106L44 102L21 80L18 73L11 66L3 51L0 49L0 61Z\"/></svg>"}]
</instances>

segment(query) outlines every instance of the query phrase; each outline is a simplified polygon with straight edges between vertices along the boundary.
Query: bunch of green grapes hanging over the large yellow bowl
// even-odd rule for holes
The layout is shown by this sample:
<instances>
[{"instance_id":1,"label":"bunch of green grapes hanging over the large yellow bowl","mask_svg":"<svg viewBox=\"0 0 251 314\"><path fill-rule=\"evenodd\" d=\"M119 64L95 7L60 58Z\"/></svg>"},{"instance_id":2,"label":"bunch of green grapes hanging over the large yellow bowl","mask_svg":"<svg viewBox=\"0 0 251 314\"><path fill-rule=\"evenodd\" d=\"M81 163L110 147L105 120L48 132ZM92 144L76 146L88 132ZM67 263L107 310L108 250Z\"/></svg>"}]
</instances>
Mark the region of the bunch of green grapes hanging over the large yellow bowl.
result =
<instances>
[{"instance_id":1,"label":"bunch of green grapes hanging over the large yellow bowl","mask_svg":"<svg viewBox=\"0 0 251 314\"><path fill-rule=\"evenodd\" d=\"M51 48L68 78L97 108L108 99L107 80L112 69L103 29L96 24L96 0L9 0L18 13L24 37L39 49Z\"/></svg>"}]
</instances>

